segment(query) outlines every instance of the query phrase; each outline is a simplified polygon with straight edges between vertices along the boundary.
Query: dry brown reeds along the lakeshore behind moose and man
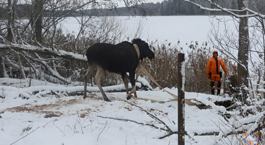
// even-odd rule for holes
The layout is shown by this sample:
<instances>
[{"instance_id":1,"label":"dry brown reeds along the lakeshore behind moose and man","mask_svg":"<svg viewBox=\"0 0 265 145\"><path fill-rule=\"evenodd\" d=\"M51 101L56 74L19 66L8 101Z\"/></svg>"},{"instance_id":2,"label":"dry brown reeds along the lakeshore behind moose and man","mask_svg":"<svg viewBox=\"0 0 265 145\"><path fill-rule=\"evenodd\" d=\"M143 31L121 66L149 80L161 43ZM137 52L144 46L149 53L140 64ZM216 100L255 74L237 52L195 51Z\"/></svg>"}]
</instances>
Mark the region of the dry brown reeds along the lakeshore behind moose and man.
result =
<instances>
[{"instance_id":1,"label":"dry brown reeds along the lakeshore behind moose and man","mask_svg":"<svg viewBox=\"0 0 265 145\"><path fill-rule=\"evenodd\" d=\"M68 42L65 45L59 45L59 49L65 51L74 52L73 48L75 47L74 41L75 36L67 34L66 36L62 32L58 31L57 33L57 42L58 44L63 44ZM78 54L85 54L87 47L91 46L94 41L87 41L80 38L81 41L78 42ZM206 76L206 64L207 60L212 56L212 50L207 49L207 44L202 47L198 47L198 42L195 45L191 44L188 46L188 51L185 53L185 91L187 92L199 92L199 93L209 93L210 81ZM158 42L150 42L150 49L155 53L155 58L144 59L142 62L143 66L149 71L153 78L163 87L176 87L177 86L177 56L181 52L180 48L176 45L171 45L171 43L164 42L164 44L158 44ZM219 54L220 55L220 54ZM223 57L225 64L227 65L227 70L229 74L237 74L237 67L229 61L227 58ZM56 62L53 66L56 66ZM72 77L73 72L80 71L79 78L76 81L83 81L83 76L86 73L87 64L63 60L57 63L57 71L61 76ZM95 74L94 74L95 75ZM93 76L94 76L93 75ZM141 74L143 76L143 74ZM145 76L143 76L146 78ZM89 83L92 83L93 79L90 79ZM153 88L156 85L153 82L150 82L147 79ZM102 79L102 86L112 86L123 83L121 75L115 73L106 72L106 75ZM82 84L80 84L82 85Z\"/></svg>"}]
</instances>

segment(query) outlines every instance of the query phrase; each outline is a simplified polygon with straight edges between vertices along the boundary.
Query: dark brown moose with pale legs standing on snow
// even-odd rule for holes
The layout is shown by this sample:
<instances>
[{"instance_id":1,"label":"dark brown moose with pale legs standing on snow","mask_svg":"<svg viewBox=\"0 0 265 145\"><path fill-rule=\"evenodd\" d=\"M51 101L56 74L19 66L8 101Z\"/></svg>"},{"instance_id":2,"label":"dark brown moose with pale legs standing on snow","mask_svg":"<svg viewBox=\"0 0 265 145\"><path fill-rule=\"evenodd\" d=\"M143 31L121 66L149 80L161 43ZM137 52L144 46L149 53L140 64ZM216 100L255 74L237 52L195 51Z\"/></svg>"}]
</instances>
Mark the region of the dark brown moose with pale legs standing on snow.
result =
<instances>
[{"instance_id":1,"label":"dark brown moose with pale legs standing on snow","mask_svg":"<svg viewBox=\"0 0 265 145\"><path fill-rule=\"evenodd\" d=\"M136 44L139 47L139 58L133 44ZM155 57L155 54L149 49L148 43L139 38L132 40L132 43L123 41L116 45L108 43L95 43L87 49L86 55L88 60L88 69L84 76L84 99L87 97L87 81L90 79L95 69L97 69L94 81L99 87L105 101L110 100L104 93L100 81L105 75L106 70L114 73L121 73L126 93L129 93L126 72L129 72L129 79L133 88L135 85L135 71L138 66L139 59L143 61L146 57L149 59ZM134 96L137 97L136 92L134 93Z\"/></svg>"}]
</instances>

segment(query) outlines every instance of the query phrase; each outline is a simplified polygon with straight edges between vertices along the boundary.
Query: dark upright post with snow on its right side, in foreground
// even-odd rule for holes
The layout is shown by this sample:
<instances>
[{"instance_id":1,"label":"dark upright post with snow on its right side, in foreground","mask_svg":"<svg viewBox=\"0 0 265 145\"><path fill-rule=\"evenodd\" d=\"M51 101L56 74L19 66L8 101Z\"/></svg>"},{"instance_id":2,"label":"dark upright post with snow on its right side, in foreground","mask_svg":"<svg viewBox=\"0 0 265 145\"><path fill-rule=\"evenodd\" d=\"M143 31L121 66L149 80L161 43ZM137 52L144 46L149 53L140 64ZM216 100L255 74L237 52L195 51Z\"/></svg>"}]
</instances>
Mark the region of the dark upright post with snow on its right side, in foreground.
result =
<instances>
[{"instance_id":1,"label":"dark upright post with snow on its right side, in foreground","mask_svg":"<svg viewBox=\"0 0 265 145\"><path fill-rule=\"evenodd\" d=\"M185 145L185 54L178 53L178 145Z\"/></svg>"}]
</instances>

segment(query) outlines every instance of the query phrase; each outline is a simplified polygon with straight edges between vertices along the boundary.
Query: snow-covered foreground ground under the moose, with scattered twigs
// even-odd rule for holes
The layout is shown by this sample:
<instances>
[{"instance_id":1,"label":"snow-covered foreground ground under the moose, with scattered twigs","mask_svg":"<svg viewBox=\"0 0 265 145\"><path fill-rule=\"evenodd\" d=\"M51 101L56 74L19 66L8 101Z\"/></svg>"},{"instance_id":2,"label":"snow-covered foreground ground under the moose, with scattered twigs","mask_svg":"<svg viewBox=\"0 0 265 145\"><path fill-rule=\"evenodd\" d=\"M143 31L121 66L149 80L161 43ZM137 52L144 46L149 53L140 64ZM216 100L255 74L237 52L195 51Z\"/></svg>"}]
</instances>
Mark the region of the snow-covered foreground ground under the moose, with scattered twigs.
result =
<instances>
[{"instance_id":1,"label":"snow-covered foreground ground under the moose, with scattered twigs","mask_svg":"<svg viewBox=\"0 0 265 145\"><path fill-rule=\"evenodd\" d=\"M86 99L80 94L69 95L70 92L82 94L80 88L83 86L45 84L37 80L31 80L31 86L28 86L29 83L26 82L29 80L0 78L1 145L177 144L177 134L158 139L168 134L165 131L167 127L172 132L178 131L176 101L127 101L125 92L117 92L106 93L112 102L105 102L99 92L88 93ZM115 87L120 86L112 86ZM88 90L92 89L93 87L88 87ZM109 90L108 87L104 89ZM178 91L177 88L165 89L174 94ZM173 99L171 95L159 89L137 91L137 95L139 98L158 101ZM231 99L189 92L185 92L185 98L196 98L201 102L208 100L207 98ZM195 106L185 105L185 130L188 134L185 136L186 144L239 144L240 137L234 135L218 139L220 130L227 132L231 125L220 115L222 108L212 108L200 110ZM154 119L147 112L158 119ZM252 119L257 117L253 116ZM243 127L249 129L247 125ZM201 135L215 132L216 136Z\"/></svg>"}]
</instances>

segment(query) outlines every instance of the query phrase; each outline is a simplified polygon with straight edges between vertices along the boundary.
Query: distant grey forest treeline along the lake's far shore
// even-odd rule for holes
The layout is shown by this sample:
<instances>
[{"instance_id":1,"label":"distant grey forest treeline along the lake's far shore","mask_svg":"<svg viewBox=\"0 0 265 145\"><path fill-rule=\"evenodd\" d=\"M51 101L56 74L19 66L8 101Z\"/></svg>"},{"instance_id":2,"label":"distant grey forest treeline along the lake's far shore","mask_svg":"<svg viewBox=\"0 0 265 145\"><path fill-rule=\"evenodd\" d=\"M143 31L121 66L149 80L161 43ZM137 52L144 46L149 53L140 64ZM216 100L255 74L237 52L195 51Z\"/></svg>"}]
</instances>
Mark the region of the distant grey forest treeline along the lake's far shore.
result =
<instances>
[{"instance_id":1,"label":"distant grey forest treeline along the lake's far shore","mask_svg":"<svg viewBox=\"0 0 265 145\"><path fill-rule=\"evenodd\" d=\"M201 4L207 8L216 8L209 2L203 0L191 0L197 4ZM223 8L237 9L237 0L212 0L216 4ZM263 2L265 5L265 1ZM19 17L28 15L30 5L19 5L16 8L16 13ZM253 8L254 9L254 8ZM260 10L261 13L265 13L265 9ZM7 8L0 8L2 17L7 16ZM44 13L50 13L50 11L44 11ZM63 12L62 12L63 13ZM145 3L134 7L126 8L112 8L112 9L87 9L85 11L87 16L173 16L173 15L223 15L225 12L212 12L200 9L198 6L191 4L183 0L164 0L163 2ZM3 15L4 14L4 15ZM60 13L57 13L60 14ZM81 12L74 11L71 16L81 16ZM45 16L45 14L44 14Z\"/></svg>"}]
</instances>

